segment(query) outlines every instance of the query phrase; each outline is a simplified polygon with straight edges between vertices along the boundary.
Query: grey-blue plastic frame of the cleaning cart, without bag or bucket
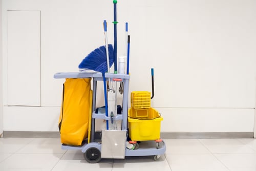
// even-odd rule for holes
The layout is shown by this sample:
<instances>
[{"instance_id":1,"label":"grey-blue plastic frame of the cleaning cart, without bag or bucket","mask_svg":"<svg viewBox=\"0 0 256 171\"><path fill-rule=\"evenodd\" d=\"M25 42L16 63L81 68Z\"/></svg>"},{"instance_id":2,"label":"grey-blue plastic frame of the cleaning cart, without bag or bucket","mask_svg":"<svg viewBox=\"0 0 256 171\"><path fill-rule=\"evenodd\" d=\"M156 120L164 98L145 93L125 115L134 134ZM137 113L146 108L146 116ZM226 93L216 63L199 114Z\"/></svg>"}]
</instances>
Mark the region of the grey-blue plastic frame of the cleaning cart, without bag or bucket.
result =
<instances>
[{"instance_id":1,"label":"grey-blue plastic frame of the cleaning cart, without bag or bucket","mask_svg":"<svg viewBox=\"0 0 256 171\"><path fill-rule=\"evenodd\" d=\"M90 148L98 149L99 153L101 151L101 143L94 142L94 135L95 135L95 119L104 119L104 120L111 120L111 117L105 116L105 114L96 114L96 94L97 94L97 81L103 81L102 74L99 72L62 72L54 74L54 78L93 78L93 103L92 103L92 127L91 127L91 140L90 143L85 143L81 146L72 146L72 145L65 145L62 144L62 149L80 149L82 153L86 153ZM127 130L127 112L128 112L128 97L129 97L129 80L130 75L126 74L111 74L106 73L105 78L110 78L111 81L113 78L119 78L123 82L123 106L122 106L122 114L118 115L115 120L122 120L122 131ZM164 154L166 151L166 146L164 141L161 142L160 145L156 145L156 147L148 147L148 144L152 144L152 141L142 141L141 143L145 143L146 145L142 148L138 149L128 149L125 147L125 156L154 156L154 160L159 160L160 155ZM84 155L86 158L86 155ZM87 159L86 159L87 160ZM98 160L90 161L90 163L96 163L100 161Z\"/></svg>"}]
</instances>

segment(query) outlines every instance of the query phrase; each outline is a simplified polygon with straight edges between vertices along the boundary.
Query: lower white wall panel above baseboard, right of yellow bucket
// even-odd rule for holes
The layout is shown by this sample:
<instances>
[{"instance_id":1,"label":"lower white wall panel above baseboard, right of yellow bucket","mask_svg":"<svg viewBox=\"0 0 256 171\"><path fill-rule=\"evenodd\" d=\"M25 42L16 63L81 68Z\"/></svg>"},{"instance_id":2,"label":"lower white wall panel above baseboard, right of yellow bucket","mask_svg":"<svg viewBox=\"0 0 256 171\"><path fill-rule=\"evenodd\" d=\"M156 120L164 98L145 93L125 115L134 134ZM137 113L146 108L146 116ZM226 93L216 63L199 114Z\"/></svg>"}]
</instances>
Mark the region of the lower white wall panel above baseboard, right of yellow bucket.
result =
<instances>
[{"instance_id":1,"label":"lower white wall panel above baseboard, right of yellow bucket","mask_svg":"<svg viewBox=\"0 0 256 171\"><path fill-rule=\"evenodd\" d=\"M254 109L156 108L161 132L253 132Z\"/></svg>"}]
</instances>

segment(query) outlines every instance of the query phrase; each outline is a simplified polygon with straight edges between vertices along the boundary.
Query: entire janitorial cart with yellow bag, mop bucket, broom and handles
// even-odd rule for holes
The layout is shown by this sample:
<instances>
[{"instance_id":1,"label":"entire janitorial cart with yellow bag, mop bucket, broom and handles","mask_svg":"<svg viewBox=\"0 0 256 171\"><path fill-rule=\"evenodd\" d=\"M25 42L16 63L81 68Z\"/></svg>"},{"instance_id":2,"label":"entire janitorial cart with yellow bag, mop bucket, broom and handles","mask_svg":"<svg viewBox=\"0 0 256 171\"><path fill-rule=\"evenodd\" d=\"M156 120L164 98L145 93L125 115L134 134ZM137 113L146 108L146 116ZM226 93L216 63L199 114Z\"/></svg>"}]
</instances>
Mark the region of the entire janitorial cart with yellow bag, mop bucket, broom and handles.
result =
<instances>
[{"instance_id":1,"label":"entire janitorial cart with yellow bag, mop bucket, broom and handles","mask_svg":"<svg viewBox=\"0 0 256 171\"><path fill-rule=\"evenodd\" d=\"M151 72L152 96L146 91L129 94L130 36L126 23L126 65L123 65L123 58L119 58L117 71L116 3L114 0L114 47L108 44L104 20L105 45L83 59L80 71L54 74L54 78L66 79L59 117L61 148L81 150L89 163L97 163L101 158L124 159L126 156L154 156L154 160L159 160L166 146L160 138L163 118L151 106L154 70ZM114 73L111 73L113 64ZM100 83L103 83L104 93L99 94L97 86ZM117 85L120 85L119 89ZM118 92L122 96L121 105L117 105ZM105 105L99 108L96 97L104 99ZM106 121L105 129L96 131L97 119ZM120 127L117 122L121 123Z\"/></svg>"}]
</instances>

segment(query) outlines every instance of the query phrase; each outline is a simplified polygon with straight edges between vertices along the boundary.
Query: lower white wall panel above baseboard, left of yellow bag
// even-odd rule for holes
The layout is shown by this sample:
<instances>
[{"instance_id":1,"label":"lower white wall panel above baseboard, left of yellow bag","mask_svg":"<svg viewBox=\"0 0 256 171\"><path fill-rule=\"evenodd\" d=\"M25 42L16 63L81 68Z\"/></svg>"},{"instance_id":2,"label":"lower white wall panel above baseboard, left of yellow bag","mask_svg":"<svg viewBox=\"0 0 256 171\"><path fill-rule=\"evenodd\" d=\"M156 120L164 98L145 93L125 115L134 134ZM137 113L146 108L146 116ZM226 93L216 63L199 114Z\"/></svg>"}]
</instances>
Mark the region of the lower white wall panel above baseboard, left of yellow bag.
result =
<instances>
[{"instance_id":1,"label":"lower white wall panel above baseboard, left of yellow bag","mask_svg":"<svg viewBox=\"0 0 256 171\"><path fill-rule=\"evenodd\" d=\"M4 106L4 131L58 131L60 108Z\"/></svg>"}]
</instances>

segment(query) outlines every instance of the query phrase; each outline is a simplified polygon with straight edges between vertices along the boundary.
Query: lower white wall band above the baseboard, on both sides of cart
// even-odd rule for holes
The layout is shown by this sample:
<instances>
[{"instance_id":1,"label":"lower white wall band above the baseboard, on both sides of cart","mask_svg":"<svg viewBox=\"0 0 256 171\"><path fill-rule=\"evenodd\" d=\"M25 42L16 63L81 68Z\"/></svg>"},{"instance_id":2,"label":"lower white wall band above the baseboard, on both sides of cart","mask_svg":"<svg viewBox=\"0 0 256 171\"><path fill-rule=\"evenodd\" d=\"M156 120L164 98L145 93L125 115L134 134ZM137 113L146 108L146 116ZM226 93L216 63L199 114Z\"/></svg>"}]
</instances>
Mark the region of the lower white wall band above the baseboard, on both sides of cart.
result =
<instances>
[{"instance_id":1,"label":"lower white wall band above the baseboard, on both sides of cart","mask_svg":"<svg viewBox=\"0 0 256 171\"><path fill-rule=\"evenodd\" d=\"M253 132L254 109L156 109L164 118L161 132ZM59 114L59 107L5 106L4 130L58 131Z\"/></svg>"}]
</instances>

